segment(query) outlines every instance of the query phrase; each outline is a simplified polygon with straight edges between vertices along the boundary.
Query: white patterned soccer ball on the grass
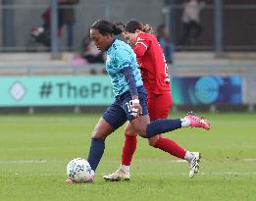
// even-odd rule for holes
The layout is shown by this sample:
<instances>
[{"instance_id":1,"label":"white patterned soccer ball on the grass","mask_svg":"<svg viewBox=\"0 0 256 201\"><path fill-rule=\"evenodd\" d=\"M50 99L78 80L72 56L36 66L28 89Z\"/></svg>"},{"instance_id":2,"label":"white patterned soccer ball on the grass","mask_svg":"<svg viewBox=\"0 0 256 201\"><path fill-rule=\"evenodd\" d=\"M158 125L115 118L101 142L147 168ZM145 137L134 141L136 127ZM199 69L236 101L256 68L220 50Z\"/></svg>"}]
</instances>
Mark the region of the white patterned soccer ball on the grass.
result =
<instances>
[{"instance_id":1,"label":"white patterned soccer ball on the grass","mask_svg":"<svg viewBox=\"0 0 256 201\"><path fill-rule=\"evenodd\" d=\"M73 159L67 166L67 176L75 182L91 182L94 171L85 159Z\"/></svg>"}]
</instances>

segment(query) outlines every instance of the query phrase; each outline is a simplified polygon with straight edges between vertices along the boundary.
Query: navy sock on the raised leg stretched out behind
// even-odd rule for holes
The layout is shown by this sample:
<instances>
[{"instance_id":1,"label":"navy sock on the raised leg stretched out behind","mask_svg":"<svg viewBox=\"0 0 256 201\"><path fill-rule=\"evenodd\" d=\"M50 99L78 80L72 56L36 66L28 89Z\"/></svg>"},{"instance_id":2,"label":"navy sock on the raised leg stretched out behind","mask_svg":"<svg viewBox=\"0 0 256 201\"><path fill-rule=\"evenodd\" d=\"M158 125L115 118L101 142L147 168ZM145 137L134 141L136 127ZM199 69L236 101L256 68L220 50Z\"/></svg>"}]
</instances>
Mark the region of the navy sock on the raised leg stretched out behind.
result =
<instances>
[{"instance_id":1,"label":"navy sock on the raised leg stretched out behind","mask_svg":"<svg viewBox=\"0 0 256 201\"><path fill-rule=\"evenodd\" d=\"M151 122L146 128L146 138L153 137L181 127L181 121L178 120L156 120Z\"/></svg>"}]
</instances>

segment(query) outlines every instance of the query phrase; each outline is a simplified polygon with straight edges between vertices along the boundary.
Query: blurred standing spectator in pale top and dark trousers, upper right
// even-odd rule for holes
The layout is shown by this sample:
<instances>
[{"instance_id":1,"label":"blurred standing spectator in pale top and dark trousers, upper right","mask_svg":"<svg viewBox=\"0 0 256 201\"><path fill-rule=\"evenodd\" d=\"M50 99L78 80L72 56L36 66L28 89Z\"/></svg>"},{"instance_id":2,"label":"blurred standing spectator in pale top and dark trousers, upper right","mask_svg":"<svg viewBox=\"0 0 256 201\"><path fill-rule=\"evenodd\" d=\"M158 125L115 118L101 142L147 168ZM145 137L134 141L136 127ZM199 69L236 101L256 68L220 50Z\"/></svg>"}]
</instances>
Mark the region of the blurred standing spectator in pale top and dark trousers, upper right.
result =
<instances>
[{"instance_id":1,"label":"blurred standing spectator in pale top and dark trousers, upper right","mask_svg":"<svg viewBox=\"0 0 256 201\"><path fill-rule=\"evenodd\" d=\"M181 38L182 45L194 43L202 32L200 21L200 11L204 8L205 3L201 0L186 0L183 4L183 13L181 22L183 25L183 35Z\"/></svg>"}]
</instances>

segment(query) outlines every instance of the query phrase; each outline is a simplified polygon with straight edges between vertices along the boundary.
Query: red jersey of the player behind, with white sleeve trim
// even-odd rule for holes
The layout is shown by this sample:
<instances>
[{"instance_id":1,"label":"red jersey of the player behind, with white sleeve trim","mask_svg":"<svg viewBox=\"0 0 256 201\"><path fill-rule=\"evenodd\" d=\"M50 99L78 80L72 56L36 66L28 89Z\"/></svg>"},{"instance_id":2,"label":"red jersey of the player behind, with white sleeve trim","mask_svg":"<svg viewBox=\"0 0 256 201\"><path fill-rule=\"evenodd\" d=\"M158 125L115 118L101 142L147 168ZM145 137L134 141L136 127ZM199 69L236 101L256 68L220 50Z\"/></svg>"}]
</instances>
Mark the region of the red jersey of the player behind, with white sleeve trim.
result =
<instances>
[{"instance_id":1,"label":"red jersey of the player behind, with white sleeve trim","mask_svg":"<svg viewBox=\"0 0 256 201\"><path fill-rule=\"evenodd\" d=\"M139 33L133 47L148 94L170 91L170 77L163 49L155 35Z\"/></svg>"}]
</instances>

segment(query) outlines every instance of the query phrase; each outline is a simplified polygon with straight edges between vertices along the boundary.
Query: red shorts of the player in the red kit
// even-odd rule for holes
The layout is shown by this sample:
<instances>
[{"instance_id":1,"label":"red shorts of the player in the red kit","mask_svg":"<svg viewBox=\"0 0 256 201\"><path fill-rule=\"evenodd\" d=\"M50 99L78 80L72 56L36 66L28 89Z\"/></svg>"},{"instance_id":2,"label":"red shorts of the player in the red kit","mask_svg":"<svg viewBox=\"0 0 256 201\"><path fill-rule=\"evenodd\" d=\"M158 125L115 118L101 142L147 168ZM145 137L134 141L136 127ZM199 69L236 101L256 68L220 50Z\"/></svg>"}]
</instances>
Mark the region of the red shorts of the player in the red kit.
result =
<instances>
[{"instance_id":1,"label":"red shorts of the player in the red kit","mask_svg":"<svg viewBox=\"0 0 256 201\"><path fill-rule=\"evenodd\" d=\"M150 121L167 119L173 105L170 91L164 94L147 94Z\"/></svg>"}]
</instances>

